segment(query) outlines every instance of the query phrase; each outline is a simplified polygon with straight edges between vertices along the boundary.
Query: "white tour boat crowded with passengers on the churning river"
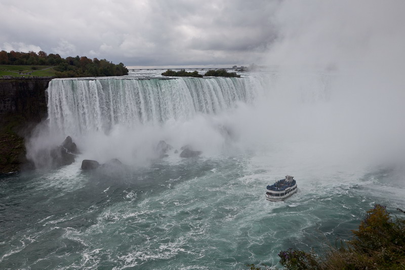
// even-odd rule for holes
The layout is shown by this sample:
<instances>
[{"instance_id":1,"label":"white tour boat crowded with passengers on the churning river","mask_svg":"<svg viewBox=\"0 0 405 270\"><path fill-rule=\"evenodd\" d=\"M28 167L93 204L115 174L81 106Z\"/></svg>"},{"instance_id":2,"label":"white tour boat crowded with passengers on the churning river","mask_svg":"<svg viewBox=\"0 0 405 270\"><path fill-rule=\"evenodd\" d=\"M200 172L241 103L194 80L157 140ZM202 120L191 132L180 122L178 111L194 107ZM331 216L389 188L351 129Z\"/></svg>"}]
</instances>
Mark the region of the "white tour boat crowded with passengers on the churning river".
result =
<instances>
[{"instance_id":1,"label":"white tour boat crowded with passengers on the churning river","mask_svg":"<svg viewBox=\"0 0 405 270\"><path fill-rule=\"evenodd\" d=\"M267 185L266 199L272 202L284 201L297 192L297 182L294 176L286 175L285 179Z\"/></svg>"}]
</instances>

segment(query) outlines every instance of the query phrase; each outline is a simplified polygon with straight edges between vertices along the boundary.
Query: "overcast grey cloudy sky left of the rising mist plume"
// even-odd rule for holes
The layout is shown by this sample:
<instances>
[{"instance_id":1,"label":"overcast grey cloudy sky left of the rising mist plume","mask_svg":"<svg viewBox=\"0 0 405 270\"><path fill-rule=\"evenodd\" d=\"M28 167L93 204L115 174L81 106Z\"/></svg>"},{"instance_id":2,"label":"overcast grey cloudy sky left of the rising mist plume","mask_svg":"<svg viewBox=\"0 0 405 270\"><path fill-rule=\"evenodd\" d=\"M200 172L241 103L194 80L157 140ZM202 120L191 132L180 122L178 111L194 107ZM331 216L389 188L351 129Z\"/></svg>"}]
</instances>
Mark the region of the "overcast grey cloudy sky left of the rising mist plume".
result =
<instances>
[{"instance_id":1,"label":"overcast grey cloudy sky left of the rising mist plume","mask_svg":"<svg viewBox=\"0 0 405 270\"><path fill-rule=\"evenodd\" d=\"M0 50L127 66L259 63L278 1L2 0Z\"/></svg>"}]
</instances>

